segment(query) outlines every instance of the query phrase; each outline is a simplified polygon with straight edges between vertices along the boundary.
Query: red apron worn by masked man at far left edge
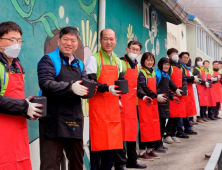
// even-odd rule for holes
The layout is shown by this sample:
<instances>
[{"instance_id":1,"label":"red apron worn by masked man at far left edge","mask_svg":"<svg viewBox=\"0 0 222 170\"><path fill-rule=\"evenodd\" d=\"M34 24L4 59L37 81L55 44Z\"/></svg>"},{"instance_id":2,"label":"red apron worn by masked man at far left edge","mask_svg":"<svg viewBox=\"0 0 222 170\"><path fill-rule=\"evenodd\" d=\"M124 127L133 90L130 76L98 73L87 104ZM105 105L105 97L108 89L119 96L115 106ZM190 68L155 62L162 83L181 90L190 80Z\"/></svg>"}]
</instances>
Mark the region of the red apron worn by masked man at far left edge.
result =
<instances>
[{"instance_id":1,"label":"red apron worn by masked man at far left edge","mask_svg":"<svg viewBox=\"0 0 222 170\"><path fill-rule=\"evenodd\" d=\"M4 96L24 99L24 79L21 74L11 74L9 67L8 87ZM26 118L0 113L0 169L31 170L28 128Z\"/></svg>"}]
</instances>

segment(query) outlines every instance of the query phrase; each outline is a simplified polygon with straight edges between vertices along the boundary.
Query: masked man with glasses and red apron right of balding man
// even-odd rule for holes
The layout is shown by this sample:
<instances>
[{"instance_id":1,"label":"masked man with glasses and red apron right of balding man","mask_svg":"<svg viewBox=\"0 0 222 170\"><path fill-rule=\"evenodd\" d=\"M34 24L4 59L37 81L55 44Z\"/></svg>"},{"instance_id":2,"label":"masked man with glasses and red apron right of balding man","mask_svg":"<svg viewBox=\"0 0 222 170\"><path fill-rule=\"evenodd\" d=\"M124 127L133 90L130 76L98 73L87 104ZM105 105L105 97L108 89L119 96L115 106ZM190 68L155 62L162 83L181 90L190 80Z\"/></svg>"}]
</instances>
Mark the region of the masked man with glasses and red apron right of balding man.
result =
<instances>
[{"instance_id":1,"label":"masked man with glasses and red apron right of balding man","mask_svg":"<svg viewBox=\"0 0 222 170\"><path fill-rule=\"evenodd\" d=\"M136 58L141 54L142 44L139 41L130 41L126 48L126 55L121 58L124 79L128 80L129 93L121 96L122 133L126 148L117 150L115 158L115 170L127 168L146 168L146 165L137 162L136 138L137 138L137 77L138 62ZM126 158L126 152L127 157Z\"/></svg>"}]
</instances>

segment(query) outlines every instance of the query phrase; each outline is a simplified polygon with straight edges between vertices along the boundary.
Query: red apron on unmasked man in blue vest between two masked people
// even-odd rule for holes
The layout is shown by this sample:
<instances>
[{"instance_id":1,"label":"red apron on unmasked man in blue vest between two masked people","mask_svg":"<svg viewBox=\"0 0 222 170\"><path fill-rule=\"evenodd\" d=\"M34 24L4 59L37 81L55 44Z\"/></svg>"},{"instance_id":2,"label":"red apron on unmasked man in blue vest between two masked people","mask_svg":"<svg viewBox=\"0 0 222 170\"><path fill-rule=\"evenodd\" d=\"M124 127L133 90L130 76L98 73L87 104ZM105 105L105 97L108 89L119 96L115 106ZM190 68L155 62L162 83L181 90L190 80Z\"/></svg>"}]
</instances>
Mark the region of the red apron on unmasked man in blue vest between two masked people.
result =
<instances>
[{"instance_id":1,"label":"red apron on unmasked man in blue vest between two masked people","mask_svg":"<svg viewBox=\"0 0 222 170\"><path fill-rule=\"evenodd\" d=\"M190 76L190 72L186 69L187 76ZM186 96L186 115L195 116L197 115L194 92L193 92L193 83L187 83L188 95Z\"/></svg>"}]
</instances>

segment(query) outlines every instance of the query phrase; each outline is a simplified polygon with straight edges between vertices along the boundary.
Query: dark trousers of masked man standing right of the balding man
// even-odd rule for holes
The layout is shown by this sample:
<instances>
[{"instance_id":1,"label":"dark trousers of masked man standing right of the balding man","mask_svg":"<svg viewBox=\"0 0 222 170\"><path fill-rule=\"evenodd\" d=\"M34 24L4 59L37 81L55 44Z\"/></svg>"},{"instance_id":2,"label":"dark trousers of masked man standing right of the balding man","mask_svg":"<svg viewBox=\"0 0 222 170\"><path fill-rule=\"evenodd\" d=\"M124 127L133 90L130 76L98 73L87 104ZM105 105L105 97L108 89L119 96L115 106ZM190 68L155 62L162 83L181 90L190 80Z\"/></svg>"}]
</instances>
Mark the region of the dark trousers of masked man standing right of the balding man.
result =
<instances>
[{"instance_id":1,"label":"dark trousers of masked man standing right of the balding man","mask_svg":"<svg viewBox=\"0 0 222 170\"><path fill-rule=\"evenodd\" d=\"M135 165L137 163L137 153L136 153L136 142L127 141L125 142L124 149L118 149L116 151L116 157L115 157L115 168L122 168L126 164L127 165ZM126 153L127 157L126 158Z\"/></svg>"}]
</instances>

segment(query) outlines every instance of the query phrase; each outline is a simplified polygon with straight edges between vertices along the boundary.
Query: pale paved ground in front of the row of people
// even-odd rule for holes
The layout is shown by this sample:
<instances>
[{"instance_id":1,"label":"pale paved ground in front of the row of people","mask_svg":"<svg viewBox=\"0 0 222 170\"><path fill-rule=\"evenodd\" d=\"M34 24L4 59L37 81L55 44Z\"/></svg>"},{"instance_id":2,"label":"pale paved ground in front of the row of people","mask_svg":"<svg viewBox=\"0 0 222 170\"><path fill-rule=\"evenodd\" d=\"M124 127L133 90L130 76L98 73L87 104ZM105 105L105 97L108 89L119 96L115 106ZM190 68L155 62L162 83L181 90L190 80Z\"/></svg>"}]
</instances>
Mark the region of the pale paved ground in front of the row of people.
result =
<instances>
[{"instance_id":1,"label":"pale paved ground in front of the row of people","mask_svg":"<svg viewBox=\"0 0 222 170\"><path fill-rule=\"evenodd\" d=\"M139 162L146 164L148 170L203 170L209 160L204 154L212 153L216 143L222 143L222 119L194 127L198 135L180 139L181 143L165 144L169 150L159 154L160 159Z\"/></svg>"}]
</instances>

